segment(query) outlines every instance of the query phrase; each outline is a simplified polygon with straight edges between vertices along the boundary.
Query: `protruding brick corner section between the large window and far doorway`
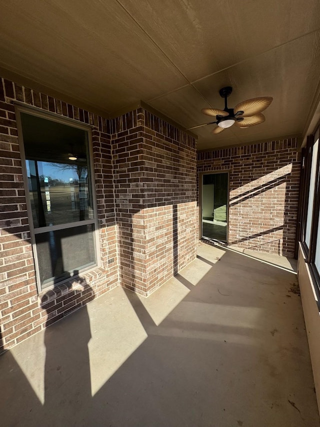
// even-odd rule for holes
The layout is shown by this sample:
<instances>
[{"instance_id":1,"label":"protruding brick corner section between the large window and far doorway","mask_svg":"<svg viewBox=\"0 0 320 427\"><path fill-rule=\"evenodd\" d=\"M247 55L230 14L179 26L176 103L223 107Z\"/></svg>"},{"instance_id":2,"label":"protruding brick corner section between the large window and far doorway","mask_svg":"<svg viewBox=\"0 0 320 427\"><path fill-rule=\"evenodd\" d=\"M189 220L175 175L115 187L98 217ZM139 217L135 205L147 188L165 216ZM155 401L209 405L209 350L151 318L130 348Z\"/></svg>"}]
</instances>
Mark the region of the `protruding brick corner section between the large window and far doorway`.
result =
<instances>
[{"instance_id":1,"label":"protruding brick corner section between the large window and far doorway","mask_svg":"<svg viewBox=\"0 0 320 427\"><path fill-rule=\"evenodd\" d=\"M110 132L120 283L146 296L195 258L195 140L144 109Z\"/></svg>"}]
</instances>

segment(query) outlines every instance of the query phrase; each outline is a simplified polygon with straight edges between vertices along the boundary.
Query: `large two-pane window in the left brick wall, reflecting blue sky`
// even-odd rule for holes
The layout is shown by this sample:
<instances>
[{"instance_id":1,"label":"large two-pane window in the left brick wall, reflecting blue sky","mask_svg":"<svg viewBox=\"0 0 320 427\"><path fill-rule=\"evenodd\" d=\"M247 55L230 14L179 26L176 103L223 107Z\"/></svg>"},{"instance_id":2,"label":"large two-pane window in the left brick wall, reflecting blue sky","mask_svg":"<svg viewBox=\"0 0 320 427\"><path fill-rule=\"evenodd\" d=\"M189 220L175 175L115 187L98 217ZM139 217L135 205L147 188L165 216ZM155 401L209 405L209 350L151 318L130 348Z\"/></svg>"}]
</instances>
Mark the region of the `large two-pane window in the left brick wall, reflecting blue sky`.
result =
<instances>
[{"instance_id":1,"label":"large two-pane window in the left brick wall, reflecting blue sky","mask_svg":"<svg viewBox=\"0 0 320 427\"><path fill-rule=\"evenodd\" d=\"M20 109L20 142L40 289L97 265L89 130Z\"/></svg>"}]
</instances>

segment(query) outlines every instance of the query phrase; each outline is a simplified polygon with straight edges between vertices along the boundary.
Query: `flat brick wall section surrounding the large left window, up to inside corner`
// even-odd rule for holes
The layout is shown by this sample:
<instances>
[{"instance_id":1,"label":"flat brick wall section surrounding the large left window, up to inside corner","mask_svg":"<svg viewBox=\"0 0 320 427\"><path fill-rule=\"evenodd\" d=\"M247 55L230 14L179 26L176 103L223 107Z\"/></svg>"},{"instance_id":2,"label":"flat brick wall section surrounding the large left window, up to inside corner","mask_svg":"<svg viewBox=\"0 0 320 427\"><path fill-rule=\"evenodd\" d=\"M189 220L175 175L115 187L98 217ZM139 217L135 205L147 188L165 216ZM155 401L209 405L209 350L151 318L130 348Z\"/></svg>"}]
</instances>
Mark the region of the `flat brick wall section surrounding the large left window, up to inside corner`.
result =
<instances>
[{"instance_id":1,"label":"flat brick wall section surrounding the large left window, up to inside corner","mask_svg":"<svg viewBox=\"0 0 320 427\"><path fill-rule=\"evenodd\" d=\"M40 295L12 100L92 126L101 266ZM112 159L106 125L105 119L90 112L0 79L0 351L118 284Z\"/></svg>"}]
</instances>

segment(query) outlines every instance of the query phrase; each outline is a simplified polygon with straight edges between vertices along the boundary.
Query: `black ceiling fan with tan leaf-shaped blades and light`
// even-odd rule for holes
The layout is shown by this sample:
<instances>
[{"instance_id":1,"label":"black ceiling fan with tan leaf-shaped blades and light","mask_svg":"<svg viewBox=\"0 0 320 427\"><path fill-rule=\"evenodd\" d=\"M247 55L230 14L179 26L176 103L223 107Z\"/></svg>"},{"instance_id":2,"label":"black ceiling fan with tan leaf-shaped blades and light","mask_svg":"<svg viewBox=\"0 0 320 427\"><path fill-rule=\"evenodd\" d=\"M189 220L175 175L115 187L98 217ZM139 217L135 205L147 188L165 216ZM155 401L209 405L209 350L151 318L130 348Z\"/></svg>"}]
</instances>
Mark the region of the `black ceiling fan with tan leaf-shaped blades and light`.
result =
<instances>
[{"instance_id":1,"label":"black ceiling fan with tan leaf-shaped blades and light","mask_svg":"<svg viewBox=\"0 0 320 427\"><path fill-rule=\"evenodd\" d=\"M232 125L238 128L247 128L249 126L259 125L263 123L265 117L261 112L265 110L272 102L271 97L252 98L246 101L240 102L234 108L228 108L227 97L230 96L232 88L227 86L219 90L221 98L224 98L224 110L218 110L215 108L202 108L201 112L207 116L215 116L214 122L204 123L203 125L193 126L191 129L201 128L202 126L212 125L213 123L217 126L213 129L212 133L219 134L231 127Z\"/></svg>"}]
</instances>

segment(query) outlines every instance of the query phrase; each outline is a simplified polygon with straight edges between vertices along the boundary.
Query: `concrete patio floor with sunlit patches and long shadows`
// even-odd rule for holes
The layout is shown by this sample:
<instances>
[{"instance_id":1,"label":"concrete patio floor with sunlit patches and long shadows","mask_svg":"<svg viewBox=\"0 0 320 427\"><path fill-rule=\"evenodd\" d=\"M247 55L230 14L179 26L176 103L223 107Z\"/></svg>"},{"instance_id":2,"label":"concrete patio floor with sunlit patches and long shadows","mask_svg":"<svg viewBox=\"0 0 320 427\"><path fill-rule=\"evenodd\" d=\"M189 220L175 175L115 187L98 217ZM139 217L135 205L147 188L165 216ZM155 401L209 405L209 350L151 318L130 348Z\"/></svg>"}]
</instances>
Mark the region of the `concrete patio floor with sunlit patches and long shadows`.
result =
<instances>
[{"instance_id":1,"label":"concrete patio floor with sunlit patches and long shadows","mask_svg":"<svg viewBox=\"0 0 320 427\"><path fill-rule=\"evenodd\" d=\"M318 427L294 261L245 252L201 243L5 352L0 425Z\"/></svg>"}]
</instances>

